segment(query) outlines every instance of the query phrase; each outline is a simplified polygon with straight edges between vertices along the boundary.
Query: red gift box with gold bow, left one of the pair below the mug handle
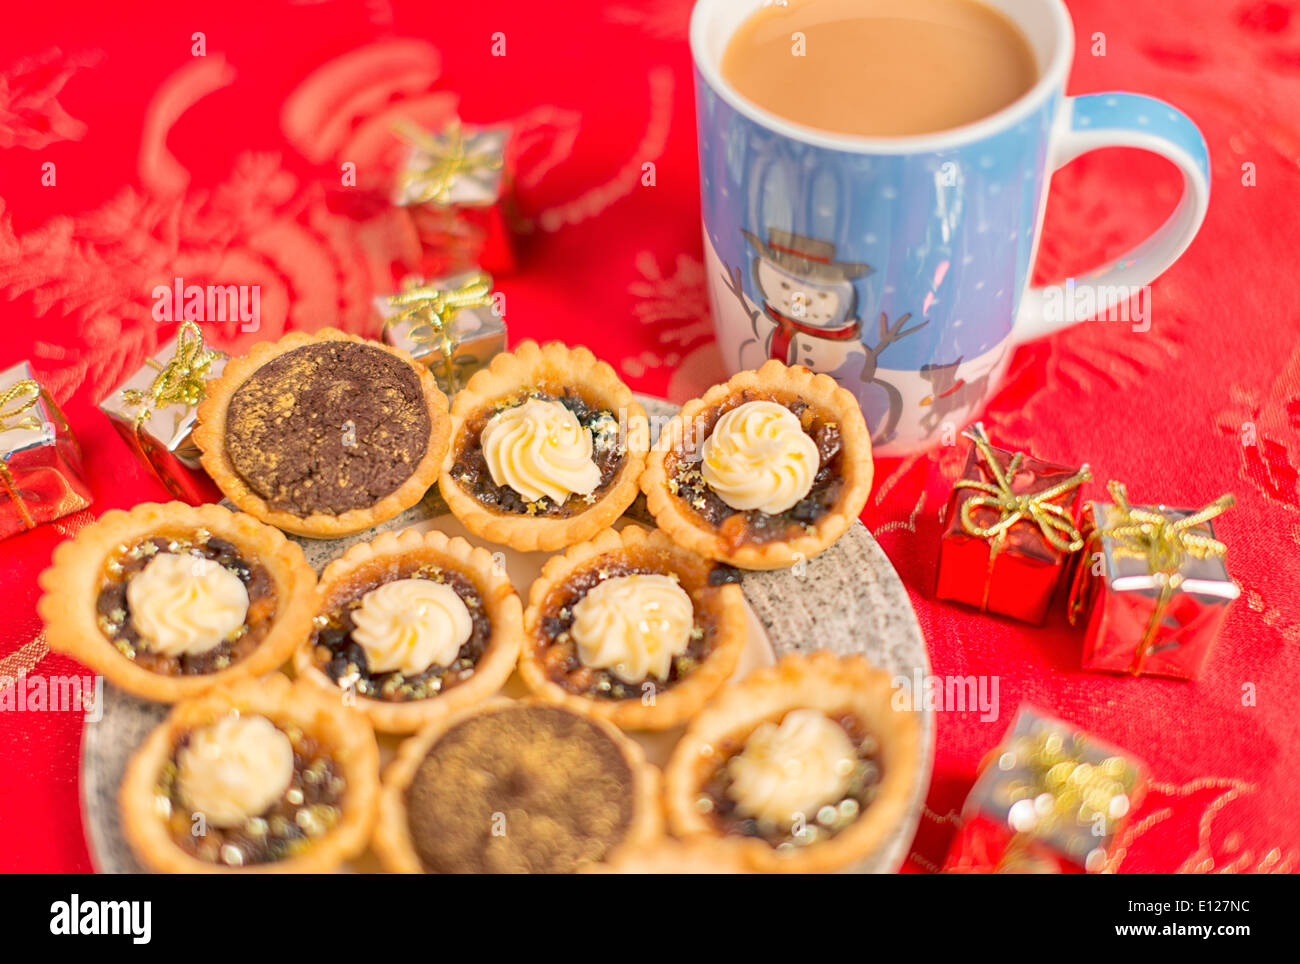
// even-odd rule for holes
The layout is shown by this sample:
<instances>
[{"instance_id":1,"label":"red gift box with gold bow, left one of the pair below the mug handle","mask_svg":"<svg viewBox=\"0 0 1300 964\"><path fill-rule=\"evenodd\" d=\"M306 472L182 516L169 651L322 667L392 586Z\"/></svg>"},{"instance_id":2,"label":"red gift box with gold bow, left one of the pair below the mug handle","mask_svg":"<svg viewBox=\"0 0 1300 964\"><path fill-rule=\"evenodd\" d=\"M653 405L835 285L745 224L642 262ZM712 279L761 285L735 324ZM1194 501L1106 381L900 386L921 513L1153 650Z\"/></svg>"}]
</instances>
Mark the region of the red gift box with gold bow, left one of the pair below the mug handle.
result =
<instances>
[{"instance_id":1,"label":"red gift box with gold bow, left one of the pair below the mug handle","mask_svg":"<svg viewBox=\"0 0 1300 964\"><path fill-rule=\"evenodd\" d=\"M948 500L935 595L1026 622L1043 622L1066 560L1083 547L1075 527L1088 466L1056 465L971 440Z\"/></svg>"}]
</instances>

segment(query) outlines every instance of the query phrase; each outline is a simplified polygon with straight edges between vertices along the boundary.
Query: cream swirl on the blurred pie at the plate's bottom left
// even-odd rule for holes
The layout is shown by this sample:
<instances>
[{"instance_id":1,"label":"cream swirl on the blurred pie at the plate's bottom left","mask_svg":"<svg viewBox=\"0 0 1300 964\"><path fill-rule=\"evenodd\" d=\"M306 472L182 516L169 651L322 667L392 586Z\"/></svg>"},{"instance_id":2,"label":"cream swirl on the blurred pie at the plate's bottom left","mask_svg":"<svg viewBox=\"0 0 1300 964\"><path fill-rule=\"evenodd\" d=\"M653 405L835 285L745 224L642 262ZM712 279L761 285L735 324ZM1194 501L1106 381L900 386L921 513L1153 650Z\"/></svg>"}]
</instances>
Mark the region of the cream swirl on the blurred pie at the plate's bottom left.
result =
<instances>
[{"instance_id":1,"label":"cream swirl on the blurred pie at the plate's bottom left","mask_svg":"<svg viewBox=\"0 0 1300 964\"><path fill-rule=\"evenodd\" d=\"M230 713L190 734L177 757L177 790L214 826L265 813L294 780L294 744L264 716Z\"/></svg>"}]
</instances>

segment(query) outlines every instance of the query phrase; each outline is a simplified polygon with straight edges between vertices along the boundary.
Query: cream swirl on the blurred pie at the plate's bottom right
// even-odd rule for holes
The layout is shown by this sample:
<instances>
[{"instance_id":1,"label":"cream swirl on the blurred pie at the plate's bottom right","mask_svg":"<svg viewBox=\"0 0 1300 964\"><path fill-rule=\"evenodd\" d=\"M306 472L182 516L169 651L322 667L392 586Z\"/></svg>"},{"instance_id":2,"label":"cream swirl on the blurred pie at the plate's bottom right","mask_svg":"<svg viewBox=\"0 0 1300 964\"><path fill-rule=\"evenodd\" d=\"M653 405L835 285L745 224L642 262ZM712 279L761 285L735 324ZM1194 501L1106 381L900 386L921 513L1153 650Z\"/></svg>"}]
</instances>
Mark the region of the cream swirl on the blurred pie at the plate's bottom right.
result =
<instances>
[{"instance_id":1,"label":"cream swirl on the blurred pie at the plate's bottom right","mask_svg":"<svg viewBox=\"0 0 1300 964\"><path fill-rule=\"evenodd\" d=\"M760 724L727 764L727 794L746 817L789 826L796 815L848 791L857 754L849 735L816 709L793 709L780 725Z\"/></svg>"}]
</instances>

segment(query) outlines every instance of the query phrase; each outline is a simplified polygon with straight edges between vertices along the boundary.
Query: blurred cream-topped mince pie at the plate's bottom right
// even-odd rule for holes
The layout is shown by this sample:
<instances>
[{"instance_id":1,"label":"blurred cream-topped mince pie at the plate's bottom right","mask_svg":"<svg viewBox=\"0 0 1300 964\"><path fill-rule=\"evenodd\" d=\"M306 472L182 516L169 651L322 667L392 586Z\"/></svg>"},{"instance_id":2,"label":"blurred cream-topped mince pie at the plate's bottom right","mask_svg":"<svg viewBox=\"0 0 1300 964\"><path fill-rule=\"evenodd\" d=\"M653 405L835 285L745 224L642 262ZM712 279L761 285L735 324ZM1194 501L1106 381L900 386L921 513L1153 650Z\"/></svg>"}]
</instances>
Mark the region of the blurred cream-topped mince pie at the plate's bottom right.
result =
<instances>
[{"instance_id":1,"label":"blurred cream-topped mince pie at the plate's bottom right","mask_svg":"<svg viewBox=\"0 0 1300 964\"><path fill-rule=\"evenodd\" d=\"M672 751L679 837L744 844L755 870L820 873L868 857L907 812L920 726L855 656L786 656L724 689Z\"/></svg>"}]
</instances>

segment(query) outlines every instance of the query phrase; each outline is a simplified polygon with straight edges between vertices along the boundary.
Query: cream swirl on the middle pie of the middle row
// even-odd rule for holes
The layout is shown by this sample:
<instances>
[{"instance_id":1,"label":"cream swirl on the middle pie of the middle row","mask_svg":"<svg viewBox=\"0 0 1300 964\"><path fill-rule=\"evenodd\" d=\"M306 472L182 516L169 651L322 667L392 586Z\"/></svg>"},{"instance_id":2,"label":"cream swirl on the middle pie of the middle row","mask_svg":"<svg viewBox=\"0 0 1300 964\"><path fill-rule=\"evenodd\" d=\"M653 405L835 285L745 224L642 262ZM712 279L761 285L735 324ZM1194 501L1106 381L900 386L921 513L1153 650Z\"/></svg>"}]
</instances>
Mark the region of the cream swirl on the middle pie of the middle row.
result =
<instances>
[{"instance_id":1,"label":"cream swirl on the middle pie of the middle row","mask_svg":"<svg viewBox=\"0 0 1300 964\"><path fill-rule=\"evenodd\" d=\"M352 611L352 639L372 673L422 673L450 666L473 631L473 618L451 586L394 579L361 596Z\"/></svg>"}]
</instances>

